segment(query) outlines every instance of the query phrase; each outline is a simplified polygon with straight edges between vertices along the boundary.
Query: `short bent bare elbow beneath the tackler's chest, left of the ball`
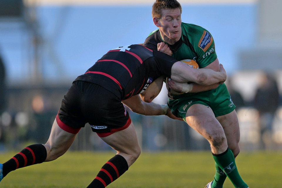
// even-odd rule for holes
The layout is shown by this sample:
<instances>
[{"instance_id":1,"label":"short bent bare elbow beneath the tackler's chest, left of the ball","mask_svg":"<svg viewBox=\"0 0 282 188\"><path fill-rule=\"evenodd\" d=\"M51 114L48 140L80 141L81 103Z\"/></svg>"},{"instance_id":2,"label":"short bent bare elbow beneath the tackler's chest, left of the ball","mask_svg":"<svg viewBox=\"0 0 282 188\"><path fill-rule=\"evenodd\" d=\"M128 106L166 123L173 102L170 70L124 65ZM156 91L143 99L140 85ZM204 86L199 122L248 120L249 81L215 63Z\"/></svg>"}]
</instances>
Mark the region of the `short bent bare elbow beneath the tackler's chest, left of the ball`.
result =
<instances>
[{"instance_id":1,"label":"short bent bare elbow beneath the tackler's chest, left of the ball","mask_svg":"<svg viewBox=\"0 0 282 188\"><path fill-rule=\"evenodd\" d=\"M154 98L159 95L160 91L162 90L162 85L164 81L164 76L160 76L156 80L154 80L147 89L140 94L141 99L146 102L150 103Z\"/></svg>"}]
</instances>

